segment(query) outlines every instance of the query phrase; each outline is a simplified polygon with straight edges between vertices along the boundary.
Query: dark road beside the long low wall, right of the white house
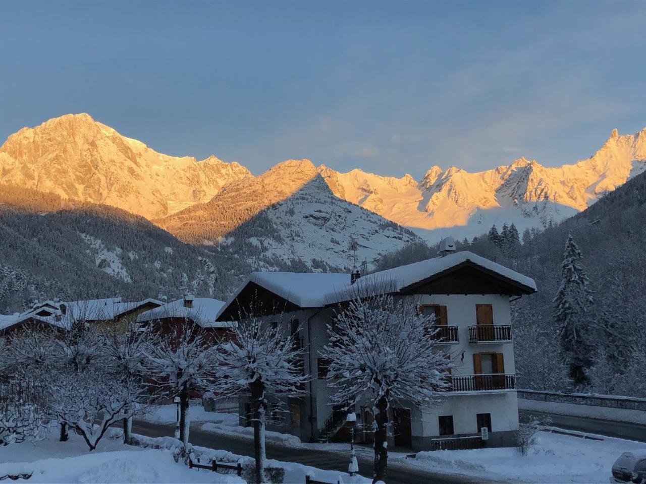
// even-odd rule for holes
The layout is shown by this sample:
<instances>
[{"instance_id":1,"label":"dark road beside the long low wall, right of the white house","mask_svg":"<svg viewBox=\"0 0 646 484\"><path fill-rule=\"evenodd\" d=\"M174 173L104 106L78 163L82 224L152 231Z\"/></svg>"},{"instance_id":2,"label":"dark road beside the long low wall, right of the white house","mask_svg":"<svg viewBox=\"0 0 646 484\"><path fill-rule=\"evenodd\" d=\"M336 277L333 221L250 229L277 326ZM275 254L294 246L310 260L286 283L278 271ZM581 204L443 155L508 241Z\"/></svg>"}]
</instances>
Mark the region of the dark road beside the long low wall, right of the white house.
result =
<instances>
[{"instance_id":1,"label":"dark road beside the long low wall, right of the white house","mask_svg":"<svg viewBox=\"0 0 646 484\"><path fill-rule=\"evenodd\" d=\"M531 410L519 410L519 416L521 419L528 416L536 416L541 419L549 417L552 421L552 425L554 425L554 427L560 427L561 429L579 430L579 432L589 432L590 434L599 434L609 437L646 442L646 425L640 423L550 414L547 412L534 412Z\"/></svg>"}]
</instances>

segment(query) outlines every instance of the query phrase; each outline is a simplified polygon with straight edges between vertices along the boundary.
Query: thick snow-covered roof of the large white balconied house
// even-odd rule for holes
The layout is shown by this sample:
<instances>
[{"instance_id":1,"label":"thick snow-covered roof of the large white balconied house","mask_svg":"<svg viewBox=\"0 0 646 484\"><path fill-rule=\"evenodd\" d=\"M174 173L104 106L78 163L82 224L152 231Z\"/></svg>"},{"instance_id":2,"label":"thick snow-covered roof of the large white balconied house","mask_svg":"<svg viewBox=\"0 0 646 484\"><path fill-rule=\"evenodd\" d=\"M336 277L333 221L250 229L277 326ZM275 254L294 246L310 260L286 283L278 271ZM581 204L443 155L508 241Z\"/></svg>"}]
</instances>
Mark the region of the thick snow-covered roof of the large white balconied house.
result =
<instances>
[{"instance_id":1,"label":"thick snow-covered roof of the large white balconied house","mask_svg":"<svg viewBox=\"0 0 646 484\"><path fill-rule=\"evenodd\" d=\"M536 291L536 283L531 277L523 276L515 270L506 268L494 261L477 256L473 252L453 252L444 257L435 257L408 265L373 272L362 276L351 284L349 274L325 274L315 272L253 272L238 287L233 296L222 306L218 317L233 303L249 283L256 283L298 307L314 308L346 301L351 294L357 294L362 287L380 286L384 292L399 292L402 289L424 281L457 265L472 263L512 283L526 288L527 292Z\"/></svg>"}]
</instances>

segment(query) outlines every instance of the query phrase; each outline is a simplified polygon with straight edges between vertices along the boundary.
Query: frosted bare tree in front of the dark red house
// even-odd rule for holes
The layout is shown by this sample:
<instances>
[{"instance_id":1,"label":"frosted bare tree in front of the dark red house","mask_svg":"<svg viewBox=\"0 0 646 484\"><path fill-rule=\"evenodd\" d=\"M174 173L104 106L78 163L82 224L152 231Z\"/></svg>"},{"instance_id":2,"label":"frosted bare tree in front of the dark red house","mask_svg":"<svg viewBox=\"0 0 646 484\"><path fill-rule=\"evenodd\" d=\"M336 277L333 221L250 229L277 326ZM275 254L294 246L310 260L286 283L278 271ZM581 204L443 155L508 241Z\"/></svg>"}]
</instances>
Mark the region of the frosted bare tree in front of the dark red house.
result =
<instances>
[{"instance_id":1,"label":"frosted bare tree in front of the dark red house","mask_svg":"<svg viewBox=\"0 0 646 484\"><path fill-rule=\"evenodd\" d=\"M180 398L180 440L187 445L191 391L208 387L214 376L211 343L189 320L163 329L154 322L146 334L143 368L156 398Z\"/></svg>"}]
</instances>

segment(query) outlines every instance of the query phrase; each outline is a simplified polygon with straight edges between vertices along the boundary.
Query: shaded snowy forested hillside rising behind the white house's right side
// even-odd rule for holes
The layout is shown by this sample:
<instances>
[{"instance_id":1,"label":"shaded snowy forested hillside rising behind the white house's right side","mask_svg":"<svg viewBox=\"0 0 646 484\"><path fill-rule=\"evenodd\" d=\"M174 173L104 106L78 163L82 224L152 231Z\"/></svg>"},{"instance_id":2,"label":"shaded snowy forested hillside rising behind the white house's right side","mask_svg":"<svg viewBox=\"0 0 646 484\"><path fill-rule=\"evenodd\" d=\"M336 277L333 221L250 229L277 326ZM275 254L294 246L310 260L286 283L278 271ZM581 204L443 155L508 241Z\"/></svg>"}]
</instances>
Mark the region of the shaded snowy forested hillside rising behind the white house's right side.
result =
<instances>
[{"instance_id":1,"label":"shaded snowy forested hillside rising behind the white house's right side","mask_svg":"<svg viewBox=\"0 0 646 484\"><path fill-rule=\"evenodd\" d=\"M536 280L537 294L512 303L519 385L646 397L646 174L543 232L526 230L519 239L509 232L506 228L504 237L485 234L457 245L458 250L495 259ZM554 303L570 233L581 250L578 265L589 279L593 300L578 323L577 344L587 348L589 356L585 381L578 385L570 379ZM423 246L404 248L384 257L378 268L435 252Z\"/></svg>"}]
</instances>

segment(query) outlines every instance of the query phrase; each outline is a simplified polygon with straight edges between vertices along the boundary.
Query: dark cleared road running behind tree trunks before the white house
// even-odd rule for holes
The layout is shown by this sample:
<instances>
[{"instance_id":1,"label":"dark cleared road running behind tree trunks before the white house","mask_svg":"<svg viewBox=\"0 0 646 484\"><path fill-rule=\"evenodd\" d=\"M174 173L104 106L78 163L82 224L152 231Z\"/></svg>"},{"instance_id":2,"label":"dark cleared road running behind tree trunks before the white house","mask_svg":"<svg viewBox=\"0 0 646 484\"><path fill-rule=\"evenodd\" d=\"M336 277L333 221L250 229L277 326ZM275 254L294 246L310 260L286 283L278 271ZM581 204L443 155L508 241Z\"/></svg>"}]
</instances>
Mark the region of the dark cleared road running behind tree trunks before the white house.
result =
<instances>
[{"instance_id":1,"label":"dark cleared road running behind tree trunks before the white house","mask_svg":"<svg viewBox=\"0 0 646 484\"><path fill-rule=\"evenodd\" d=\"M144 421L132 422L132 432L149 437L172 436L174 425L149 423ZM198 426L191 427L191 443L212 449L225 449L240 456L253 456L253 442L249 439L238 439L213 432L200 430ZM283 447L267 442L267 458L278 461L296 462L318 469L348 470L348 456L337 452L322 450L298 449ZM372 459L357 456L359 473L362 476L372 475ZM411 469L408 466L388 463L388 484L466 484L474 483L474 478L466 476L428 472L424 469ZM300 484L300 483L297 483Z\"/></svg>"}]
</instances>

